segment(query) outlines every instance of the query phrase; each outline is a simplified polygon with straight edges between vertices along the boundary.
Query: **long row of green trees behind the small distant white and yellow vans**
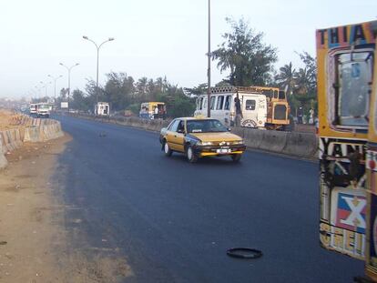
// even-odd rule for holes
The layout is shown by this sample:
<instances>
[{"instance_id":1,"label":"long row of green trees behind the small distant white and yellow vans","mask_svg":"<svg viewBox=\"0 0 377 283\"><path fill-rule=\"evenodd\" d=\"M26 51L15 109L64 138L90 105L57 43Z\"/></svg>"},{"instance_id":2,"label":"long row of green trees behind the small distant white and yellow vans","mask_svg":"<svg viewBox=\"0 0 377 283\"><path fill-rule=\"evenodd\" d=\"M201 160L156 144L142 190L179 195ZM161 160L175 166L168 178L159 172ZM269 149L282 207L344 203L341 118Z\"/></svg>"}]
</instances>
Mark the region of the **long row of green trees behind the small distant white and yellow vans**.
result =
<instances>
[{"instance_id":1,"label":"long row of green trees behind the small distant white and yellow vans","mask_svg":"<svg viewBox=\"0 0 377 283\"><path fill-rule=\"evenodd\" d=\"M98 96L98 97L97 97ZM138 116L140 104L149 101L165 102L168 116L192 116L195 101L185 96L182 88L168 83L167 78L156 80L141 77L135 82L126 73L109 73L104 87L96 86L96 82L88 80L85 92L74 90L71 96L71 107L77 110L93 110L96 101L110 103L113 111L122 113L131 110Z\"/></svg>"}]
</instances>

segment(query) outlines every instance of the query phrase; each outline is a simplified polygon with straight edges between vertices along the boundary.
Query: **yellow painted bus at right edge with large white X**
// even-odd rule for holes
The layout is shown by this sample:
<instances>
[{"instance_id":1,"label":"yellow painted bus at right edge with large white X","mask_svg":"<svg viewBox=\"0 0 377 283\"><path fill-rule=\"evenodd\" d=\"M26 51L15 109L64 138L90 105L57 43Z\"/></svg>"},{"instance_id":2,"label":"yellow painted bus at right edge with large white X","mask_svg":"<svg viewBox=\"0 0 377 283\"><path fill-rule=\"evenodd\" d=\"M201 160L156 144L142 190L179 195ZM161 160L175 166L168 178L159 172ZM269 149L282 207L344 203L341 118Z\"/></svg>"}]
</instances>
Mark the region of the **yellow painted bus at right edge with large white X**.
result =
<instances>
[{"instance_id":1,"label":"yellow painted bus at right edge with large white X","mask_svg":"<svg viewBox=\"0 0 377 283\"><path fill-rule=\"evenodd\" d=\"M316 32L321 246L365 260L371 278L377 275L376 32L377 21Z\"/></svg>"}]
</instances>

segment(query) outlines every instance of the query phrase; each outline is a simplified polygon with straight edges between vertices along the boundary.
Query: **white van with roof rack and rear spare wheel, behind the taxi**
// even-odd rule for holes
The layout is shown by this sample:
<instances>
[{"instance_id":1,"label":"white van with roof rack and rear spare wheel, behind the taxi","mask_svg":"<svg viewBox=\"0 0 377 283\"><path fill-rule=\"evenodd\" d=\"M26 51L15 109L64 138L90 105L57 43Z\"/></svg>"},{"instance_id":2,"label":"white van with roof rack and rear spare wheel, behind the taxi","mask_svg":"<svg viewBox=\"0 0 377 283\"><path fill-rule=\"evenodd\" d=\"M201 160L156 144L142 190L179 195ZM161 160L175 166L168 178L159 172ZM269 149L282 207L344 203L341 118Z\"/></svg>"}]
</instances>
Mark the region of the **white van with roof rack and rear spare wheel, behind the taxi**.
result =
<instances>
[{"instance_id":1,"label":"white van with roof rack and rear spare wheel, behind the taxi","mask_svg":"<svg viewBox=\"0 0 377 283\"><path fill-rule=\"evenodd\" d=\"M236 109L234 99L239 95L242 110L241 126L264 127L267 121L267 98L251 89L239 90L237 87L211 88L210 116L225 126L234 126ZM198 96L194 116L207 116L207 95Z\"/></svg>"}]
</instances>

